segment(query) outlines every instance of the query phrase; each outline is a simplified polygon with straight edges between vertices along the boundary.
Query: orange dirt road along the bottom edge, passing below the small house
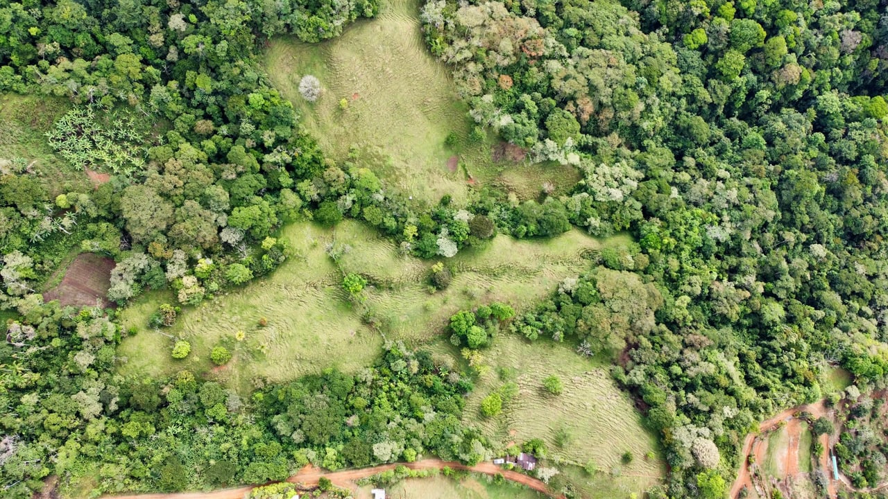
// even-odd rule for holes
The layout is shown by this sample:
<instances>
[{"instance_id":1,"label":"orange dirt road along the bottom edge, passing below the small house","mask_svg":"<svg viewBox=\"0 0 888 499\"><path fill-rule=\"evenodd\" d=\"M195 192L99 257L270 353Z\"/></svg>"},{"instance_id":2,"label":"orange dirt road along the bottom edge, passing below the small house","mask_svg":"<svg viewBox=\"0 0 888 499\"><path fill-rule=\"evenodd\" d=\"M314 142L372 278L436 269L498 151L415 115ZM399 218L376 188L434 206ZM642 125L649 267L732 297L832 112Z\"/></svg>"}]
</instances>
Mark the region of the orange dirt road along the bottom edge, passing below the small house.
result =
<instances>
[{"instance_id":1,"label":"orange dirt road along the bottom edge, passing below the small house","mask_svg":"<svg viewBox=\"0 0 888 499\"><path fill-rule=\"evenodd\" d=\"M545 495L550 495L556 499L565 499L564 495L552 495L549 491L549 487L547 487L541 480L528 477L518 471L503 470L503 468L500 468L493 463L479 463L474 466L466 466L463 463L441 461L440 459L423 459L416 463L391 463L373 466L372 468L361 468L358 470L326 472L322 471L320 468L315 468L309 465L305 466L305 468L300 470L297 474L289 477L287 481L305 487L316 487L318 485L318 480L321 479L321 477L324 477L333 482L337 487L351 488L353 487L353 482L355 480L367 478L383 471L394 470L396 466L401 464L407 466L411 470L440 470L441 468L448 466L453 470L474 471L486 475L502 474L505 479L530 487ZM250 492L253 487L258 486L225 488L222 490L214 490L212 492L184 492L179 494L106 495L104 499L243 499L243 496Z\"/></svg>"}]
</instances>

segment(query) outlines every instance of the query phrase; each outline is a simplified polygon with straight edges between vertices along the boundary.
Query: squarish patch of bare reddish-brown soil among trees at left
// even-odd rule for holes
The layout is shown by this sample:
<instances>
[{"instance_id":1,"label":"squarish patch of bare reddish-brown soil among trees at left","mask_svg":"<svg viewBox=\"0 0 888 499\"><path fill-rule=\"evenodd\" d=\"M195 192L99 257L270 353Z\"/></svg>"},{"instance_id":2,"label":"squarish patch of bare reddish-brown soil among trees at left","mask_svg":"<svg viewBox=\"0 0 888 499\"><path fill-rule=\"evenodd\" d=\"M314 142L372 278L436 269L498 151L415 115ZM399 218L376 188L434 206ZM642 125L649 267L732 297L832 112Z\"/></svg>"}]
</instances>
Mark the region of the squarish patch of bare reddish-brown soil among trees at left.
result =
<instances>
[{"instance_id":1,"label":"squarish patch of bare reddish-brown soil among trees at left","mask_svg":"<svg viewBox=\"0 0 888 499\"><path fill-rule=\"evenodd\" d=\"M100 300L105 308L113 307L106 295L111 287L111 271L115 261L95 253L77 255L67 266L58 286L44 293L44 300L59 300L61 305L92 306Z\"/></svg>"}]
</instances>

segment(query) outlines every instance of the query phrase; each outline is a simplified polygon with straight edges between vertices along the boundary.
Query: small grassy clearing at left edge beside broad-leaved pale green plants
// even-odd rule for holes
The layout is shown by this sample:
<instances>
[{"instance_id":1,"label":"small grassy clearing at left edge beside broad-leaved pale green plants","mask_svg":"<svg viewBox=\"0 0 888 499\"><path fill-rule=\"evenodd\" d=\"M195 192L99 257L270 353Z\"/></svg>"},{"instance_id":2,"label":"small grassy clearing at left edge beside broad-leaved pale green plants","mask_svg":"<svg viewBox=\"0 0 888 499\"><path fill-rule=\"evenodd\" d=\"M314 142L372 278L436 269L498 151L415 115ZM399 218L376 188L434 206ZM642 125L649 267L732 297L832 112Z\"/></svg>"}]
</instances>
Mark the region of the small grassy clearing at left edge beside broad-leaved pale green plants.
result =
<instances>
[{"instance_id":1,"label":"small grassy clearing at left edge beside broad-leaved pale green plants","mask_svg":"<svg viewBox=\"0 0 888 499\"><path fill-rule=\"evenodd\" d=\"M46 144L44 133L69 107L65 99L0 94L0 163L24 158L52 195L91 188L83 170L75 170Z\"/></svg>"}]
</instances>

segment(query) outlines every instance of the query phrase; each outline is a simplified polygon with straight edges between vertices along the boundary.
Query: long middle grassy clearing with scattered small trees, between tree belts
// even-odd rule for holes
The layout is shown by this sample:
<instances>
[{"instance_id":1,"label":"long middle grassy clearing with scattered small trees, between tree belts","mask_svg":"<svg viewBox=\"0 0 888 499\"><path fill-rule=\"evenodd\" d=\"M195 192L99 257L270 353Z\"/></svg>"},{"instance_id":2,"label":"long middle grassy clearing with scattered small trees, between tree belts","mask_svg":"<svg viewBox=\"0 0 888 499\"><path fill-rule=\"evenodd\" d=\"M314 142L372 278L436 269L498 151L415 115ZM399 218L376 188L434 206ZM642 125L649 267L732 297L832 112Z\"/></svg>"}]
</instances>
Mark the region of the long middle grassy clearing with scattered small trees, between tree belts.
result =
<instances>
[{"instance_id":1,"label":"long middle grassy clearing with scattered small trees, between tree belts","mask_svg":"<svg viewBox=\"0 0 888 499\"><path fill-rule=\"evenodd\" d=\"M348 303L341 271L328 257L333 243L348 249L342 271L365 274L375 285L364 291L369 315L381 320L386 337L411 345L434 340L450 314L483 301L506 300L518 308L551 293L558 282L583 272L583 252L601 242L578 231L547 242L519 242L500 236L491 247L454 258L454 283L430 295L425 275L432 262L401 257L394 245L368 227L345 221L335 229L307 222L284 229L296 257L265 279L189 308L170 329L147 329L148 317L162 303L175 303L167 293L148 293L123 311L125 329L139 329L120 347L129 361L125 374L170 374L181 368L211 373L249 391L261 380L287 381L322 368L353 371L377 356L382 336L361 323L361 307ZM614 238L608 244L621 244ZM258 325L265 317L265 328ZM237 331L242 342L234 340ZM164 336L168 335L168 336ZM172 360L172 337L192 344L186 360ZM210 350L229 345L234 358L225 368L212 368Z\"/></svg>"}]
</instances>

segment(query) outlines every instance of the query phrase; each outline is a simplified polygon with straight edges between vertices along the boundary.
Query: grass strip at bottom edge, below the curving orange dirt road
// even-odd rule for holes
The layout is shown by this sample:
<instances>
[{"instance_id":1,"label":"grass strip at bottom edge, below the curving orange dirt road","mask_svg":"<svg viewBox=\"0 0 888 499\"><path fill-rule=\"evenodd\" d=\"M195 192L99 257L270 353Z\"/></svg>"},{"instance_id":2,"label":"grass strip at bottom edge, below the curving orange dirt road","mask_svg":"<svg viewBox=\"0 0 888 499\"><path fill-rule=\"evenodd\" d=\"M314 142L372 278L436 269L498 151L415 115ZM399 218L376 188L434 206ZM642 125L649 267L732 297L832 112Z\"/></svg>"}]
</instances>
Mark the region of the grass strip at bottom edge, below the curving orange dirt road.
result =
<instances>
[{"instance_id":1,"label":"grass strip at bottom edge, below the curving orange dirt road","mask_svg":"<svg viewBox=\"0 0 888 499\"><path fill-rule=\"evenodd\" d=\"M355 499L369 499L371 487L361 487ZM456 481L446 477L406 479L386 487L385 496L392 499L537 499L545 495L512 482L496 485L489 477L470 477Z\"/></svg>"}]
</instances>

